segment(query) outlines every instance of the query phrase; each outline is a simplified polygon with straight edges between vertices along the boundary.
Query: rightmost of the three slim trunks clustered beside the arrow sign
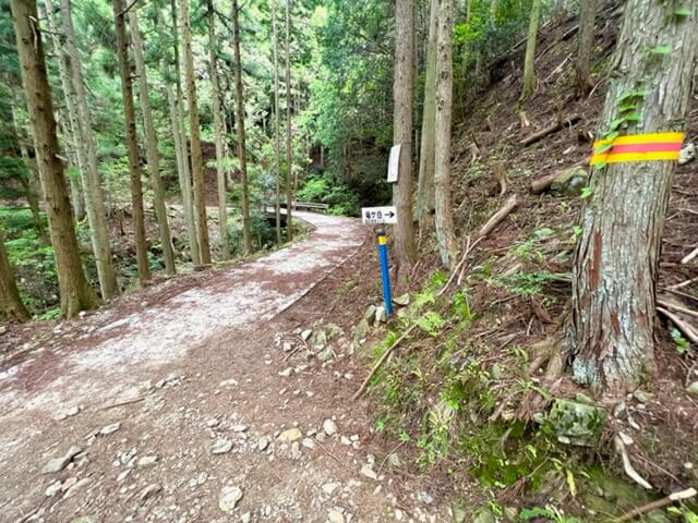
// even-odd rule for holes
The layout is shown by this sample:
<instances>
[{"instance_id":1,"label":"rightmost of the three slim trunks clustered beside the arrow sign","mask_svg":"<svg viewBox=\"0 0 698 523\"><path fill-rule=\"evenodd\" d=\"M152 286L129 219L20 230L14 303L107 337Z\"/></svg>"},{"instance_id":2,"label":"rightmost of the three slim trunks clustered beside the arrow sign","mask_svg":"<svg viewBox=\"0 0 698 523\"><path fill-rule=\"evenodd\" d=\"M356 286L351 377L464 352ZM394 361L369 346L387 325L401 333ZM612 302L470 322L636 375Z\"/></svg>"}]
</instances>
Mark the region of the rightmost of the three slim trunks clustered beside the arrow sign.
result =
<instances>
[{"instance_id":1,"label":"rightmost of the three slim trunks clustered beside the arrow sign","mask_svg":"<svg viewBox=\"0 0 698 523\"><path fill-rule=\"evenodd\" d=\"M454 219L450 206L450 122L453 117L453 0L440 0L438 51L436 58L436 150L435 150L435 208L436 240L444 267L452 267L456 256Z\"/></svg>"}]
</instances>

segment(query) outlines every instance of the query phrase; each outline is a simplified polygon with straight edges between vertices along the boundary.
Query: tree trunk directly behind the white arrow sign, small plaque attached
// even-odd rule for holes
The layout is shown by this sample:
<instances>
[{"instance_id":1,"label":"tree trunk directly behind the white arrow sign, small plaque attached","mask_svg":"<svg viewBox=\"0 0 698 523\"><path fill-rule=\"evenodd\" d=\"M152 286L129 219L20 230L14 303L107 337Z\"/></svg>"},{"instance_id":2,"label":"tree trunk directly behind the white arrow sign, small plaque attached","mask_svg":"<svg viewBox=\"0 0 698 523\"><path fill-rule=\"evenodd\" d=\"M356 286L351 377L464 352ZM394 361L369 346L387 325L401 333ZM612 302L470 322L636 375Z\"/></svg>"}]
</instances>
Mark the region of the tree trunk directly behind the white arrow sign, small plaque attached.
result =
<instances>
[{"instance_id":1,"label":"tree trunk directly behind the white arrow sign, small plaque attached","mask_svg":"<svg viewBox=\"0 0 698 523\"><path fill-rule=\"evenodd\" d=\"M397 207L395 245L397 248L398 282L405 283L409 268L417 258L414 226L412 224L412 59L414 53L414 5L412 0L396 0L395 19L395 96L393 142L401 144L397 183L393 199Z\"/></svg>"}]
</instances>

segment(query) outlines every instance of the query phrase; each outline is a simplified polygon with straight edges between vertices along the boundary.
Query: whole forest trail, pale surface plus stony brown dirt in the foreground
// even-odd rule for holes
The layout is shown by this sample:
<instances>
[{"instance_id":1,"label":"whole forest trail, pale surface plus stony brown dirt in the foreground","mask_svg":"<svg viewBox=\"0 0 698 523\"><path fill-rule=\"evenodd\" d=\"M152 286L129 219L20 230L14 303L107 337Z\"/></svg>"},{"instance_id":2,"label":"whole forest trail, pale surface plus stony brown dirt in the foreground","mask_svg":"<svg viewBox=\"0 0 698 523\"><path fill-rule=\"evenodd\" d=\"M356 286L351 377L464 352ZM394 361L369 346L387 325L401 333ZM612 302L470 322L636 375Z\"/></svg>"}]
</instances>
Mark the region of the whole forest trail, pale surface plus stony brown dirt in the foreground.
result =
<instances>
[{"instance_id":1,"label":"whole forest trail, pale surface plus stony brown dirt in the foreground","mask_svg":"<svg viewBox=\"0 0 698 523\"><path fill-rule=\"evenodd\" d=\"M315 227L299 243L61 324L0 366L1 522L448 521L349 401L349 335L325 363L292 350L338 292L313 289L369 238L299 215Z\"/></svg>"}]
</instances>

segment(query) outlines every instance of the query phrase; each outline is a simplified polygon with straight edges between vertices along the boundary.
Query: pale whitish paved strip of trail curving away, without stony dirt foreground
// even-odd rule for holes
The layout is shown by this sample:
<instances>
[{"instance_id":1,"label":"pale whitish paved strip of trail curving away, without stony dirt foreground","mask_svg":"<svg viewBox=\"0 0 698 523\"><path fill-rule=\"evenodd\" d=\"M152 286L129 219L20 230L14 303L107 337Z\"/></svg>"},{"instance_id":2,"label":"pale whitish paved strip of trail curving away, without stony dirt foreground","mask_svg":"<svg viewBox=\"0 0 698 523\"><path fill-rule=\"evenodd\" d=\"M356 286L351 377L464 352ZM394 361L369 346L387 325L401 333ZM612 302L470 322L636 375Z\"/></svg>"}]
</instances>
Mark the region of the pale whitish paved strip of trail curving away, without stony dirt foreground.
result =
<instances>
[{"instance_id":1,"label":"pale whitish paved strip of trail curving away, without stony dirt foreground","mask_svg":"<svg viewBox=\"0 0 698 523\"><path fill-rule=\"evenodd\" d=\"M49 351L0 368L0 413L51 412L67 402L115 398L123 390L123 380L139 382L143 370L185 357L216 331L270 320L365 240L365 228L357 220L311 212L296 216L314 228L298 243L214 272L203 284L155 306L143 303L125 316L118 308L98 312L82 323L77 336L61 337L63 329L58 327ZM38 380L37 373L43 372L46 375ZM27 390L33 380L36 388Z\"/></svg>"}]
</instances>

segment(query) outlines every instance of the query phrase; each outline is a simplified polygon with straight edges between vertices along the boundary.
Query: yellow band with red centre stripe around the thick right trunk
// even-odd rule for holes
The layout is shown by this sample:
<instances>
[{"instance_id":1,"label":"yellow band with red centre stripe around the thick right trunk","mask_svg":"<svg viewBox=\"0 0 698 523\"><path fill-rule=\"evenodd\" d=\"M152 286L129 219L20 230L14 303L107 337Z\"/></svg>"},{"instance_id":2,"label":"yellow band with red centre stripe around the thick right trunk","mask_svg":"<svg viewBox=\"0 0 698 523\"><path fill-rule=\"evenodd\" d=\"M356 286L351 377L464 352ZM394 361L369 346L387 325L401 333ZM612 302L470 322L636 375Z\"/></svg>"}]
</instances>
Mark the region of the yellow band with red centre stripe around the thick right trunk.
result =
<instances>
[{"instance_id":1,"label":"yellow band with red centre stripe around the thick right trunk","mask_svg":"<svg viewBox=\"0 0 698 523\"><path fill-rule=\"evenodd\" d=\"M593 144L591 166L628 161L676 161L684 133L648 133L600 139Z\"/></svg>"}]
</instances>

